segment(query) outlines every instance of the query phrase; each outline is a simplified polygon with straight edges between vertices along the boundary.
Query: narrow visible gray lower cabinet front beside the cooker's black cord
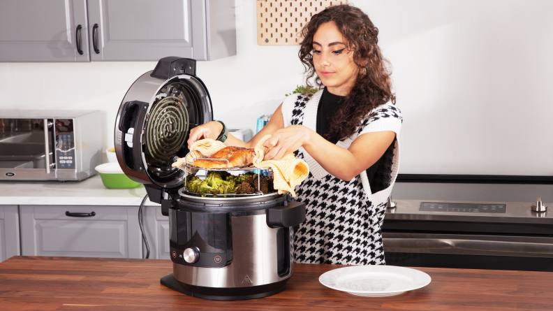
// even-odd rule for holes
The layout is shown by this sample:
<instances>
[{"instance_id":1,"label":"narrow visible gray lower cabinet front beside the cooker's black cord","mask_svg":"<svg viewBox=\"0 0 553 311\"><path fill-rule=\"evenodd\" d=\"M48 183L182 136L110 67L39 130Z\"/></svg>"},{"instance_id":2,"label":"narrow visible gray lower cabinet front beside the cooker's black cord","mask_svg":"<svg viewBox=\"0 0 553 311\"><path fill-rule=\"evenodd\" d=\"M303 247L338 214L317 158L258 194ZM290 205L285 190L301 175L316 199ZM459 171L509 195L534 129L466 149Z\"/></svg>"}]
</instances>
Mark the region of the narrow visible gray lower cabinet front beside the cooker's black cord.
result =
<instances>
[{"instance_id":1,"label":"narrow visible gray lower cabinet front beside the cooker's black cord","mask_svg":"<svg viewBox=\"0 0 553 311\"><path fill-rule=\"evenodd\" d=\"M144 231L150 248L150 259L170 259L169 217L161 215L160 206L147 206L143 215ZM144 258L146 247L142 245Z\"/></svg>"}]
</instances>

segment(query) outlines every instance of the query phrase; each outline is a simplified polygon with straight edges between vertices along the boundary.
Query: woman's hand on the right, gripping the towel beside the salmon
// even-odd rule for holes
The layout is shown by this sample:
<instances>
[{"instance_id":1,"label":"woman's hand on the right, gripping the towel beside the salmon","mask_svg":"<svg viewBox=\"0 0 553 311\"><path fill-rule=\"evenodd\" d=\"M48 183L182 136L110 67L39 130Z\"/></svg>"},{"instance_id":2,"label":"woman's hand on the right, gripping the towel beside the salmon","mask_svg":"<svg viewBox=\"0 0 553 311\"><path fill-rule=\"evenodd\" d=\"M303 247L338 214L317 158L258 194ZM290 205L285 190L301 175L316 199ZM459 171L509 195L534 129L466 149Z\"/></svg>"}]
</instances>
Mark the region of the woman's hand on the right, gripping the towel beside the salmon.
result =
<instances>
[{"instance_id":1,"label":"woman's hand on the right, gripping the towel beside the salmon","mask_svg":"<svg viewBox=\"0 0 553 311\"><path fill-rule=\"evenodd\" d=\"M272 137L265 140L263 145L271 148L265 154L264 160L280 160L286 154L295 152L305 143L309 143L311 131L303 125L290 125L283 129L276 130Z\"/></svg>"}]
</instances>

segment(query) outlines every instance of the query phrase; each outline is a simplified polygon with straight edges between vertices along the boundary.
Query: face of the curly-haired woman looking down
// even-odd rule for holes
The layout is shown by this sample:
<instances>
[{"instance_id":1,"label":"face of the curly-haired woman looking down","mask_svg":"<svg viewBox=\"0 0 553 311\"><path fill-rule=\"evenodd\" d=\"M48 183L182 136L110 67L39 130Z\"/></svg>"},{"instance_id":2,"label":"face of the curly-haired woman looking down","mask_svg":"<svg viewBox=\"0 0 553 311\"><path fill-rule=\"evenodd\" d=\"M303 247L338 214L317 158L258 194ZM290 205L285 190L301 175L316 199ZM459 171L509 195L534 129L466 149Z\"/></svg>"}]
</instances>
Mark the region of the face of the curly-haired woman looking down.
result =
<instances>
[{"instance_id":1,"label":"face of the curly-haired woman looking down","mask_svg":"<svg viewBox=\"0 0 553 311\"><path fill-rule=\"evenodd\" d=\"M346 96L359 74L359 67L353 62L353 52L346 48L346 44L334 22L320 24L313 36L315 71L334 95Z\"/></svg>"}]
</instances>

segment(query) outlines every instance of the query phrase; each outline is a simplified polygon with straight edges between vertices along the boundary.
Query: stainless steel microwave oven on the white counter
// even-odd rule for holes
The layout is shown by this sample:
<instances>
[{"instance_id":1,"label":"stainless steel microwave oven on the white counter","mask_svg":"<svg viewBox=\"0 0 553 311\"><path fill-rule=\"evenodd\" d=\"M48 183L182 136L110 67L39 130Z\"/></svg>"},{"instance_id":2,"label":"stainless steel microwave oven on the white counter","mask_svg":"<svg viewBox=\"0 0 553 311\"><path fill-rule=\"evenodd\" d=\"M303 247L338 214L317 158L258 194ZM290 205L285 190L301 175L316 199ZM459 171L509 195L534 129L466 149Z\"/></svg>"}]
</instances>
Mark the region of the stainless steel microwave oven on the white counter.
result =
<instances>
[{"instance_id":1,"label":"stainless steel microwave oven on the white counter","mask_svg":"<svg viewBox=\"0 0 553 311\"><path fill-rule=\"evenodd\" d=\"M84 180L102 162L99 110L0 110L0 180Z\"/></svg>"}]
</instances>

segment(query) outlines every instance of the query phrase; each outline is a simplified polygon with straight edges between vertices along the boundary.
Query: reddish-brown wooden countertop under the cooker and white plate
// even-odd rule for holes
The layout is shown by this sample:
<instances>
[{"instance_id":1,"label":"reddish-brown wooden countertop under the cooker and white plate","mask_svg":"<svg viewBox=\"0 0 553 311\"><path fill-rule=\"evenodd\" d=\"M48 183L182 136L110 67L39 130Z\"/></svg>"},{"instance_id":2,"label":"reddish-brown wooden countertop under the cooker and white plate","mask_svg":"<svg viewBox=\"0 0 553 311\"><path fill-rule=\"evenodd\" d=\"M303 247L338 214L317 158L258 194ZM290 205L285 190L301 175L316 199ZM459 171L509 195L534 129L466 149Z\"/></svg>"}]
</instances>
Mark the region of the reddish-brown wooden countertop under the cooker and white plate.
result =
<instances>
[{"instance_id":1,"label":"reddish-brown wooden countertop under the cooker and white plate","mask_svg":"<svg viewBox=\"0 0 553 311\"><path fill-rule=\"evenodd\" d=\"M14 256L0 263L0 310L553 310L553 273L418 268L427 287L367 298L318 282L340 267L296 264L280 294L206 301L160 284L169 260Z\"/></svg>"}]
</instances>

